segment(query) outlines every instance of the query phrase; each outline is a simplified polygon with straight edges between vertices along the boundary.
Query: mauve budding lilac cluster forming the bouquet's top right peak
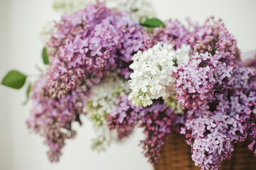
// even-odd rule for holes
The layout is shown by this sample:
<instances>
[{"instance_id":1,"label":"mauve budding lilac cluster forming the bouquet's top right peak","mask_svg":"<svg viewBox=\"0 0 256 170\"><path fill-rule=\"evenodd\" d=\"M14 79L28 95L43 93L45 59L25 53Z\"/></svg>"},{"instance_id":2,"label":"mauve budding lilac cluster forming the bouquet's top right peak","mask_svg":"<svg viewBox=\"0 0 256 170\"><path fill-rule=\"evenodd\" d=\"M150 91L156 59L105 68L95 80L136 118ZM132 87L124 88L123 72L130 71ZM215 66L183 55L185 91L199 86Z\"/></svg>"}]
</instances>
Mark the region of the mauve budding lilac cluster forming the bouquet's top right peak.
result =
<instances>
[{"instance_id":1,"label":"mauve budding lilac cluster forming the bouquet's top right peak","mask_svg":"<svg viewBox=\"0 0 256 170\"><path fill-rule=\"evenodd\" d=\"M221 19L215 21L214 17L206 20L203 26L194 26L193 32L189 35L188 42L193 47L194 54L210 52L223 54L223 62L233 62L240 59L236 40L225 28Z\"/></svg>"}]
</instances>

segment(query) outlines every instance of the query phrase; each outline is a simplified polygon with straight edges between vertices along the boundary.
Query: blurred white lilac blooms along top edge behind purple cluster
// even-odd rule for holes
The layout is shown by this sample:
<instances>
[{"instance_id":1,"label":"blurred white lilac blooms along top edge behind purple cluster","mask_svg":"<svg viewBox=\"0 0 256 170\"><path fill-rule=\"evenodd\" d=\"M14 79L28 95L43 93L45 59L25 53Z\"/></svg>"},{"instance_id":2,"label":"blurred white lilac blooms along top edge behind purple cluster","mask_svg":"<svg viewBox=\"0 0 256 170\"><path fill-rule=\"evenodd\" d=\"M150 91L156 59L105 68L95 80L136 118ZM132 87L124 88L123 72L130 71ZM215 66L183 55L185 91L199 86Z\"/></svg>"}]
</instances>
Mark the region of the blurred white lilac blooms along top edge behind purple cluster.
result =
<instances>
[{"instance_id":1,"label":"blurred white lilac blooms along top edge behind purple cluster","mask_svg":"<svg viewBox=\"0 0 256 170\"><path fill-rule=\"evenodd\" d=\"M129 12L137 22L144 22L146 18L156 17L154 6L147 0L100 0L108 8L116 11ZM74 13L85 8L92 0L55 0L53 8L62 13Z\"/></svg>"}]
</instances>

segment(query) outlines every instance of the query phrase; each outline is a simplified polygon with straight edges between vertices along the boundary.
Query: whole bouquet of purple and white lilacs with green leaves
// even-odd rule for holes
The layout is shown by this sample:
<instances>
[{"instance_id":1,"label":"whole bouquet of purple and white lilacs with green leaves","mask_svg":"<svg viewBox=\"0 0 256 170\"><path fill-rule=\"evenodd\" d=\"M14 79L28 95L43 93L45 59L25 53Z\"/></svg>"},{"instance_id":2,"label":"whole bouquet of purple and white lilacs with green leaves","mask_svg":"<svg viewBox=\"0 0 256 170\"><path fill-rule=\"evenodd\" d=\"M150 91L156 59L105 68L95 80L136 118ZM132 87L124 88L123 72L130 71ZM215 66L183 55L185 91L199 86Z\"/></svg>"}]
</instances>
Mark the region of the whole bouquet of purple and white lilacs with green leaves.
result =
<instances>
[{"instance_id":1,"label":"whole bouquet of purple and white lilacs with green leaves","mask_svg":"<svg viewBox=\"0 0 256 170\"><path fill-rule=\"evenodd\" d=\"M46 72L28 86L27 124L45 137L50 161L58 162L65 140L75 137L73 123L82 125L84 115L100 132L92 143L97 151L143 128L139 145L152 164L171 131L185 135L201 169L218 169L237 142L250 140L256 155L256 57L240 60L223 22L211 17L186 27L141 17L132 4L122 12L109 4L68 8L44 32ZM14 70L2 84L20 89L26 78Z\"/></svg>"}]
</instances>

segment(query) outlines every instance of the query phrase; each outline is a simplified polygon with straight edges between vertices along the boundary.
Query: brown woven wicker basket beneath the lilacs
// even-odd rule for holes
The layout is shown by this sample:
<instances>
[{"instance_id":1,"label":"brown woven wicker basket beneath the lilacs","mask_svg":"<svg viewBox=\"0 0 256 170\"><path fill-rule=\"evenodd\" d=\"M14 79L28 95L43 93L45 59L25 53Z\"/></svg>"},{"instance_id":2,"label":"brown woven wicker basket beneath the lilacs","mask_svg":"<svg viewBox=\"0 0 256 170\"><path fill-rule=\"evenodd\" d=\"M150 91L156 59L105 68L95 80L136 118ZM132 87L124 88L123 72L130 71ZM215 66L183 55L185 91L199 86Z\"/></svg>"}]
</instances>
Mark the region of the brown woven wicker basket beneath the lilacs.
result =
<instances>
[{"instance_id":1,"label":"brown woven wicker basket beneath the lilacs","mask_svg":"<svg viewBox=\"0 0 256 170\"><path fill-rule=\"evenodd\" d=\"M159 164L155 170L200 170L191 159L191 147L185 137L172 133L162 149ZM256 157L247 149L247 143L235 146L233 157L222 162L220 170L256 170Z\"/></svg>"}]
</instances>

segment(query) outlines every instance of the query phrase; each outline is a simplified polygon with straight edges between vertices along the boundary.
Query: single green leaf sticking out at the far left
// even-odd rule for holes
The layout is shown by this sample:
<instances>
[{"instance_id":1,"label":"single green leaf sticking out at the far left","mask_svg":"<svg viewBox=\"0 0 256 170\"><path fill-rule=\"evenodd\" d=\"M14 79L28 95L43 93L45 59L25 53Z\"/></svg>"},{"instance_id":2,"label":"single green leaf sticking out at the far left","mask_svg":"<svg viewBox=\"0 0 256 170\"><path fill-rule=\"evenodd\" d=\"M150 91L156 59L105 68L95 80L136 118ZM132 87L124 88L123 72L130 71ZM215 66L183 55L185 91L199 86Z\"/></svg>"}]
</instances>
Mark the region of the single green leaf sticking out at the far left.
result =
<instances>
[{"instance_id":1,"label":"single green leaf sticking out at the far left","mask_svg":"<svg viewBox=\"0 0 256 170\"><path fill-rule=\"evenodd\" d=\"M26 77L27 76L22 74L21 72L11 70L6 74L4 79L1 81L1 84L14 89L21 89L21 87L25 84Z\"/></svg>"}]
</instances>

